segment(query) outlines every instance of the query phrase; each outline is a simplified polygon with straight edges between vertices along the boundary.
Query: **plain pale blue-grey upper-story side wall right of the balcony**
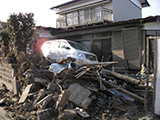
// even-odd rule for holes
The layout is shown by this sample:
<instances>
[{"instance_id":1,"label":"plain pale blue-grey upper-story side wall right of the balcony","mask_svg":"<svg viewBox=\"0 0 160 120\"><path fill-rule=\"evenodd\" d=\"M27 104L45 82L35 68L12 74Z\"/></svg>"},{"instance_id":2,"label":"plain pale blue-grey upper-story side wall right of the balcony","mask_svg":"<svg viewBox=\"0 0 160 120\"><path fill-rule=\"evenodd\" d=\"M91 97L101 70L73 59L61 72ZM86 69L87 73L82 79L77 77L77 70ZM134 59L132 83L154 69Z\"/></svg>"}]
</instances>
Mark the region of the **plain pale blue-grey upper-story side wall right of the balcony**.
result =
<instances>
[{"instance_id":1,"label":"plain pale blue-grey upper-story side wall right of the balcony","mask_svg":"<svg viewBox=\"0 0 160 120\"><path fill-rule=\"evenodd\" d=\"M112 0L113 21L124 21L133 18L142 18L141 8L129 0Z\"/></svg>"}]
</instances>

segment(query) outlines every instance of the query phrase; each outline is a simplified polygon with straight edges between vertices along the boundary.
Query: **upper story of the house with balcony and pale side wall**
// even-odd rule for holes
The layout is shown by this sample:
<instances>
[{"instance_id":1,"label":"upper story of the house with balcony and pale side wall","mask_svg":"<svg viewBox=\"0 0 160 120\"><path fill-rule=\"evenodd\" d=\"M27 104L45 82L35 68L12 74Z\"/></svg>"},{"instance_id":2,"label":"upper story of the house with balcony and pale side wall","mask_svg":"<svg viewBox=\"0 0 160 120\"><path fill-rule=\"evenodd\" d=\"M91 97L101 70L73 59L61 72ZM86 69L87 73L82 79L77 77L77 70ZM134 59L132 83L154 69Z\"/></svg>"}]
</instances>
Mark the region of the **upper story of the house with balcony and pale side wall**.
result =
<instances>
[{"instance_id":1,"label":"upper story of the house with balcony and pale side wall","mask_svg":"<svg viewBox=\"0 0 160 120\"><path fill-rule=\"evenodd\" d=\"M142 17L147 0L72 0L57 5L57 28L68 28L94 23L125 21Z\"/></svg>"}]
</instances>

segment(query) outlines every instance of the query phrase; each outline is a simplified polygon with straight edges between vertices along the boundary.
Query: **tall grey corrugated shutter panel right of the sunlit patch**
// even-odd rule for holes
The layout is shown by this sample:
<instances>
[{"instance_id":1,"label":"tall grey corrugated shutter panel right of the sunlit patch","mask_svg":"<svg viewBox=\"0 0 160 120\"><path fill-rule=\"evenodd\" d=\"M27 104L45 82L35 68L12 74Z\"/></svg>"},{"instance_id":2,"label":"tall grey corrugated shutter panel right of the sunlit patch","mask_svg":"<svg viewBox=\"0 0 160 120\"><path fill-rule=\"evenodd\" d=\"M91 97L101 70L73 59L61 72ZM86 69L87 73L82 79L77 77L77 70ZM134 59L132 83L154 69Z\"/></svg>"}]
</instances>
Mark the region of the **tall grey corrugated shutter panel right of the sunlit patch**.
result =
<instances>
[{"instance_id":1,"label":"tall grey corrugated shutter panel right of the sunlit patch","mask_svg":"<svg viewBox=\"0 0 160 120\"><path fill-rule=\"evenodd\" d=\"M131 69L139 69L139 28L126 29L122 31L124 42L125 59L129 62Z\"/></svg>"}]
</instances>

